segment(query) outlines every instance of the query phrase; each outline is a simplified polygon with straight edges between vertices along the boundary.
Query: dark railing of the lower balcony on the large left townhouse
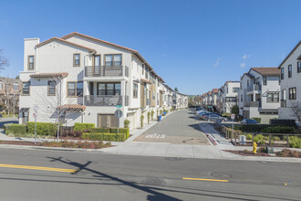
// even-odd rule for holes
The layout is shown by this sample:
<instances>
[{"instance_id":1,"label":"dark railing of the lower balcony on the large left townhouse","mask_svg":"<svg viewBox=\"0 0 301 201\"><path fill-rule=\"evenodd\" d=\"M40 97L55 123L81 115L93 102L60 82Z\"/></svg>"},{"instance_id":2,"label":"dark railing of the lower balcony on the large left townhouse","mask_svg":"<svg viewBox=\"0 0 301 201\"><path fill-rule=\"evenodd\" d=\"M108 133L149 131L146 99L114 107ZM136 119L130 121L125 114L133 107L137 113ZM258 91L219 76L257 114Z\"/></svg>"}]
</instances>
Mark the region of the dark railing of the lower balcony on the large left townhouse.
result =
<instances>
[{"instance_id":1,"label":"dark railing of the lower balcony on the large left townhouse","mask_svg":"<svg viewBox=\"0 0 301 201\"><path fill-rule=\"evenodd\" d=\"M125 104L122 104L122 96L87 95L84 96L86 106L129 106L129 96L125 96Z\"/></svg>"}]
</instances>

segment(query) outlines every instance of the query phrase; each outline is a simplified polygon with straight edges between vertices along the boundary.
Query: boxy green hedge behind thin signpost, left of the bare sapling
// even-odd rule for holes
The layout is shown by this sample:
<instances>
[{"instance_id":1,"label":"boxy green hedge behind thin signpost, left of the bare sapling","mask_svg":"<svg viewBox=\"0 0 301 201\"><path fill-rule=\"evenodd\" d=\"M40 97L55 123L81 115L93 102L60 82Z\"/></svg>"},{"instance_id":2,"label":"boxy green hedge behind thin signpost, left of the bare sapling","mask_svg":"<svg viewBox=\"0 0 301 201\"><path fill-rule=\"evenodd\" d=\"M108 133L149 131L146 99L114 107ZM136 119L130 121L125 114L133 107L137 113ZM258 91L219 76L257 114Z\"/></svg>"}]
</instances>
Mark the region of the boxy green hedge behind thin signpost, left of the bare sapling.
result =
<instances>
[{"instance_id":1,"label":"boxy green hedge behind thin signpost, left of the bare sapling","mask_svg":"<svg viewBox=\"0 0 301 201\"><path fill-rule=\"evenodd\" d=\"M35 133L35 122L27 122L27 132ZM57 125L52 122L36 122L36 134L56 136Z\"/></svg>"}]
</instances>

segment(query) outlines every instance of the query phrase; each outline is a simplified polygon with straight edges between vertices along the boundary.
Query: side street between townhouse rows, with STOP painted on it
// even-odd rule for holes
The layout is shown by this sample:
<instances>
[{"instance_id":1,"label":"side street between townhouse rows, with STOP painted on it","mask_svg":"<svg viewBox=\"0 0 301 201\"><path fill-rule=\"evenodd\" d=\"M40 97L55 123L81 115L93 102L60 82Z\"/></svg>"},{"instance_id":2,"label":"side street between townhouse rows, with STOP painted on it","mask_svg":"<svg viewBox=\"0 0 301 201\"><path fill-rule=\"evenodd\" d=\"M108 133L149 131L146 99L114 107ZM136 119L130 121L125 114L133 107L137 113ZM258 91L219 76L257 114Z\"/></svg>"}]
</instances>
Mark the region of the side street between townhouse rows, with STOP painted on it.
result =
<instances>
[{"instance_id":1,"label":"side street between townhouse rows, with STOP painted on it","mask_svg":"<svg viewBox=\"0 0 301 201\"><path fill-rule=\"evenodd\" d=\"M195 119L195 112L176 111L166 116L150 130L141 134L135 142L209 145Z\"/></svg>"}]
</instances>

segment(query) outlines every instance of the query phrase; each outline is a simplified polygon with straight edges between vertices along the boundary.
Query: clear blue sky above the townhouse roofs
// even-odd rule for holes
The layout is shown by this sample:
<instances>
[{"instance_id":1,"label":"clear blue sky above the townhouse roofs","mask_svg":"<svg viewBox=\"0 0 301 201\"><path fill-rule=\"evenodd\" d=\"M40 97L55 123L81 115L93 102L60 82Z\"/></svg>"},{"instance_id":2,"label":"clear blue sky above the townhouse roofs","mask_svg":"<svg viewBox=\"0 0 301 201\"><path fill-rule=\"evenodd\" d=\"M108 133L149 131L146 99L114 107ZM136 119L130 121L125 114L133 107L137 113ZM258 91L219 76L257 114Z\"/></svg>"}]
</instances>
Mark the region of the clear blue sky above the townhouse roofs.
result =
<instances>
[{"instance_id":1,"label":"clear blue sky above the townhouse roofs","mask_svg":"<svg viewBox=\"0 0 301 201\"><path fill-rule=\"evenodd\" d=\"M171 88L202 94L277 67L301 40L299 0L1 1L0 48L23 69L23 38L77 31L140 51Z\"/></svg>"}]
</instances>

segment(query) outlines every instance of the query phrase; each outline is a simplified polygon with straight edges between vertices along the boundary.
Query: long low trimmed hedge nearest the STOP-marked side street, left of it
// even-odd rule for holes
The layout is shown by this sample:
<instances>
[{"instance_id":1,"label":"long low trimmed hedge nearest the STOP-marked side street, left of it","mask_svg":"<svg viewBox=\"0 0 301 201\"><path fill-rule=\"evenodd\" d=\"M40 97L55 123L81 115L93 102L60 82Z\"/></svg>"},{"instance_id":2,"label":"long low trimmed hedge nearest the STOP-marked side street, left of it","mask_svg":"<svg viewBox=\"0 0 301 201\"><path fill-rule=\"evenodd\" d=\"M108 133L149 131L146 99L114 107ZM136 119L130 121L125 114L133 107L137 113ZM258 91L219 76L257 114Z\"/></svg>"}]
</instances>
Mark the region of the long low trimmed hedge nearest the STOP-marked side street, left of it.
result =
<instances>
[{"instance_id":1,"label":"long low trimmed hedge nearest the STOP-marked side street, left of it","mask_svg":"<svg viewBox=\"0 0 301 201\"><path fill-rule=\"evenodd\" d=\"M124 142L126 140L125 133L108 133L108 132L84 132L81 135L83 140L91 141L116 141Z\"/></svg>"}]
</instances>

